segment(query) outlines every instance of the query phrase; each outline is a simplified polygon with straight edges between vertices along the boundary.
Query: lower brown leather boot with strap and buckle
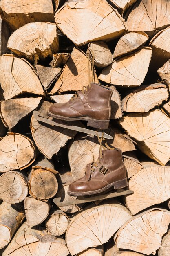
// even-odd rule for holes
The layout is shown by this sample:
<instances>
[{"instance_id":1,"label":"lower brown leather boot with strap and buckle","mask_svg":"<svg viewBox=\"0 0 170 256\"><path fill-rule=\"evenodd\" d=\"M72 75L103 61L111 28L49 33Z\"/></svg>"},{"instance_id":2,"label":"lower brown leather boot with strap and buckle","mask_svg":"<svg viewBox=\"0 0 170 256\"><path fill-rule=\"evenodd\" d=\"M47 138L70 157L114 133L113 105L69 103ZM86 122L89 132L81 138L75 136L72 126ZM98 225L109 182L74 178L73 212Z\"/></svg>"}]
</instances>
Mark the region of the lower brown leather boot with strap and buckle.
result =
<instances>
[{"instance_id":1,"label":"lower brown leather boot with strap and buckle","mask_svg":"<svg viewBox=\"0 0 170 256\"><path fill-rule=\"evenodd\" d=\"M86 174L69 185L68 195L94 195L110 188L121 189L128 186L126 168L121 149L102 150L93 164L87 164Z\"/></svg>"}]
</instances>

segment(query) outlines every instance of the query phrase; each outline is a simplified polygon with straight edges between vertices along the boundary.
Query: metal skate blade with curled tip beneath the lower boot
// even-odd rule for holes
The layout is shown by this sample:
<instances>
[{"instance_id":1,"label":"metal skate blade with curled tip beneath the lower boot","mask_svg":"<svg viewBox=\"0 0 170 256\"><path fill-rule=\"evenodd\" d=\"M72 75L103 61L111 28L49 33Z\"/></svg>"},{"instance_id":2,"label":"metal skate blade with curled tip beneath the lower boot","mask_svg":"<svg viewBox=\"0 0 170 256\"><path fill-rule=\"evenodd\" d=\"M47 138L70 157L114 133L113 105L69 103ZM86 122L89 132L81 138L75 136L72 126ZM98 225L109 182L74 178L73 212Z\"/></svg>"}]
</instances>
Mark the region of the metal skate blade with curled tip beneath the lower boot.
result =
<instances>
[{"instance_id":1,"label":"metal skate blade with curled tip beneath the lower boot","mask_svg":"<svg viewBox=\"0 0 170 256\"><path fill-rule=\"evenodd\" d=\"M134 191L132 191L132 190L118 189L116 192L112 192L112 193L108 193L108 194L104 194L104 195L96 195L96 196L91 196L91 197L77 196L77 199L69 200L66 202L60 202L61 197L58 197L58 198L54 198L53 202L58 207L62 207L62 206L68 206L68 205L73 205L73 204L85 204L88 202L105 200L108 198L115 198L115 197L121 196L121 195L131 195L133 193L134 193Z\"/></svg>"}]
</instances>

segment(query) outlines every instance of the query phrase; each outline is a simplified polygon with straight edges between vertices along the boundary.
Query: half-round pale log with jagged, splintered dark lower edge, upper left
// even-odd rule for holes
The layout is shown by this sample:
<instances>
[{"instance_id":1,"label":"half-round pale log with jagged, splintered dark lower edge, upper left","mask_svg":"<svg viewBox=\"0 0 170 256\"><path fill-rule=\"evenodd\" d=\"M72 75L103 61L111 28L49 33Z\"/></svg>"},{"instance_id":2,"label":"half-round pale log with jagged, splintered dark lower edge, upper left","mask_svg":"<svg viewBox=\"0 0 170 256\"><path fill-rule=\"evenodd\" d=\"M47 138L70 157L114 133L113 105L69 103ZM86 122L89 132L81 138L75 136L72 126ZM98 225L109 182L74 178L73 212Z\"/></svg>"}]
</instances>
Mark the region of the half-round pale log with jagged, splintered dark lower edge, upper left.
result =
<instances>
[{"instance_id":1,"label":"half-round pale log with jagged, splintered dark lower edge, upper left","mask_svg":"<svg viewBox=\"0 0 170 256\"><path fill-rule=\"evenodd\" d=\"M26 57L36 62L38 59L58 52L59 42L56 24L33 22L17 29L10 36L7 47L19 57Z\"/></svg>"}]
</instances>

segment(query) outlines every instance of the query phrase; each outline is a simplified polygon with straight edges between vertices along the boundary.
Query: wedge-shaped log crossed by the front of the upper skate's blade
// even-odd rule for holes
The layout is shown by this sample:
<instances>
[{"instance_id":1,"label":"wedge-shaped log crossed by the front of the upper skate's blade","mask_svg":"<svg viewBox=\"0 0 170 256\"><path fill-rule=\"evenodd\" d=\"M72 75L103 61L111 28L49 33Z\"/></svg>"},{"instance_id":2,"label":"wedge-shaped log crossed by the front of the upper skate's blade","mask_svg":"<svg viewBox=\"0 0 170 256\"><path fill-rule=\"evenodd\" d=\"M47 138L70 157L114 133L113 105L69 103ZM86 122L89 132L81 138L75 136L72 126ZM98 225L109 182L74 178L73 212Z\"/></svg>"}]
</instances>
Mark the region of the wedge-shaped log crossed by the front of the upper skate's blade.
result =
<instances>
[{"instance_id":1,"label":"wedge-shaped log crossed by the front of the upper skate's blade","mask_svg":"<svg viewBox=\"0 0 170 256\"><path fill-rule=\"evenodd\" d=\"M49 119L51 119L51 117L47 116L47 110L49 110L50 106L51 103L44 101L39 110L44 117ZM32 116L31 133L40 152L48 159L51 159L51 157L54 154L57 154L60 148L63 147L69 139L74 137L77 132L65 128L40 124L35 117Z\"/></svg>"}]
</instances>

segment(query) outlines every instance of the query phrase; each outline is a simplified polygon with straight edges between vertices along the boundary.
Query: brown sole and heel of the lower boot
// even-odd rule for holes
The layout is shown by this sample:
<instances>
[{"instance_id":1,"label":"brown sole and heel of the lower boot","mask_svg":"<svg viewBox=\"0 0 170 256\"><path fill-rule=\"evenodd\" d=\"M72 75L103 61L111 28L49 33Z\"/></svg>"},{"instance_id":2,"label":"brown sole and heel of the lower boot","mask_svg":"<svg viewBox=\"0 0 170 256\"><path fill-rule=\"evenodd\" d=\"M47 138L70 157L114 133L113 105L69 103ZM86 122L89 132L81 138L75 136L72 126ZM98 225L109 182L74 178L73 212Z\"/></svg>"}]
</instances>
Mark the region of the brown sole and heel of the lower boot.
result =
<instances>
[{"instance_id":1,"label":"brown sole and heel of the lower boot","mask_svg":"<svg viewBox=\"0 0 170 256\"><path fill-rule=\"evenodd\" d=\"M97 190L87 191L87 192L71 192L68 190L67 193L68 193L68 195L72 195L72 196L95 195L95 194L102 193L112 187L114 187L114 189L123 189L126 186L128 186L128 178L127 177L123 180L112 182L102 189L97 189Z\"/></svg>"}]
</instances>

